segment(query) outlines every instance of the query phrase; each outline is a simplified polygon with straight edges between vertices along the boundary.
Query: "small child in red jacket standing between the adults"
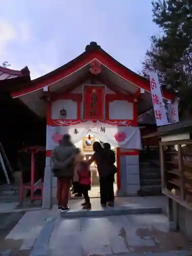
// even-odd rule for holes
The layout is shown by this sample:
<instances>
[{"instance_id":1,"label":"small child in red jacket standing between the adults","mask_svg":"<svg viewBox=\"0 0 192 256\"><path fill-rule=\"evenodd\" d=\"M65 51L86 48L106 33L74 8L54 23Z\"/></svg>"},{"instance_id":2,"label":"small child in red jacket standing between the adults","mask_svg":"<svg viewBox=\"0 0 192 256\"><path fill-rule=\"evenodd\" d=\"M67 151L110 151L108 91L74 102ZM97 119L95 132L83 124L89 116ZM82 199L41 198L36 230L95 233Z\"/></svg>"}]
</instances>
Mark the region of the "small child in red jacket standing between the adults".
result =
<instances>
[{"instance_id":1,"label":"small child in red jacket standing between the adults","mask_svg":"<svg viewBox=\"0 0 192 256\"><path fill-rule=\"evenodd\" d=\"M90 167L83 159L78 163L77 173L79 176L79 185L85 202L82 203L83 209L91 209L90 197L88 191L91 190L91 172Z\"/></svg>"}]
</instances>

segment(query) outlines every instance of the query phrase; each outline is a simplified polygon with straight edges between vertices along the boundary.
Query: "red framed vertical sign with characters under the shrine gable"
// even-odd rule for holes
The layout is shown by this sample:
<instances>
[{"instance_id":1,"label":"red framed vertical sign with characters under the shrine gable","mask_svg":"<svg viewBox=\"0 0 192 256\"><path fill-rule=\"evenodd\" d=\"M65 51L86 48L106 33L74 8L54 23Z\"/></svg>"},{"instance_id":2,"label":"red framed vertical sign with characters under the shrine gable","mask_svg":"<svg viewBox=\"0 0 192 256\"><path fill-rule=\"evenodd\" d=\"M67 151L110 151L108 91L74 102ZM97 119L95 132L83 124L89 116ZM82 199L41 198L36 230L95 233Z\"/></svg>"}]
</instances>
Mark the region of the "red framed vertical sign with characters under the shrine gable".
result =
<instances>
[{"instance_id":1,"label":"red framed vertical sign with characters under the shrine gable","mask_svg":"<svg viewBox=\"0 0 192 256\"><path fill-rule=\"evenodd\" d=\"M104 96L104 86L84 86L84 119L103 119Z\"/></svg>"}]
</instances>

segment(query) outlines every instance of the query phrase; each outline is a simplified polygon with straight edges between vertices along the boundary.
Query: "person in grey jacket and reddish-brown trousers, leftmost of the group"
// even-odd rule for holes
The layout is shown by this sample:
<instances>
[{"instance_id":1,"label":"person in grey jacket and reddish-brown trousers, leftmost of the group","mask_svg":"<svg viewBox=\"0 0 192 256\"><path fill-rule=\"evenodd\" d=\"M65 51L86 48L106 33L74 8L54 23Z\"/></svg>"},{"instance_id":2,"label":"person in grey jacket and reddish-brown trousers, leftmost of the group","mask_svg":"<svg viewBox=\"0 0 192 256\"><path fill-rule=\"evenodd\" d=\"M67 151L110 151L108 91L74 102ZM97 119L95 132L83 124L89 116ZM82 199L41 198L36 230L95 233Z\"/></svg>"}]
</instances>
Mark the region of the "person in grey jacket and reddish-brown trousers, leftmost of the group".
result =
<instances>
[{"instance_id":1,"label":"person in grey jacket and reddish-brown trousers, leftmost of the group","mask_svg":"<svg viewBox=\"0 0 192 256\"><path fill-rule=\"evenodd\" d=\"M58 209L68 211L69 190L74 175L74 161L77 148L71 142L69 134L64 134L59 145L54 148L52 155L53 173L57 177Z\"/></svg>"}]
</instances>

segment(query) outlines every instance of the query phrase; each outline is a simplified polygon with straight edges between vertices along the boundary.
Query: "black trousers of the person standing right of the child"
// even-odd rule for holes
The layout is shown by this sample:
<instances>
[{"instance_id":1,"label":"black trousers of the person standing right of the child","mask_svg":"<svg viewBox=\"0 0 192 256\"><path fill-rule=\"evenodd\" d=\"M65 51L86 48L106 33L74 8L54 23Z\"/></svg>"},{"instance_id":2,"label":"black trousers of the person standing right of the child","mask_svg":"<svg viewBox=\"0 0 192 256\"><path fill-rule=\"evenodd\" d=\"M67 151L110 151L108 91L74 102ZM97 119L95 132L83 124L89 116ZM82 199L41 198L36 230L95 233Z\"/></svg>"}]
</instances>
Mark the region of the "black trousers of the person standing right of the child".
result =
<instances>
[{"instance_id":1,"label":"black trousers of the person standing right of the child","mask_svg":"<svg viewBox=\"0 0 192 256\"><path fill-rule=\"evenodd\" d=\"M113 202L114 197L114 175L109 175L107 177L100 177L100 199L101 204L106 204L107 202Z\"/></svg>"}]
</instances>

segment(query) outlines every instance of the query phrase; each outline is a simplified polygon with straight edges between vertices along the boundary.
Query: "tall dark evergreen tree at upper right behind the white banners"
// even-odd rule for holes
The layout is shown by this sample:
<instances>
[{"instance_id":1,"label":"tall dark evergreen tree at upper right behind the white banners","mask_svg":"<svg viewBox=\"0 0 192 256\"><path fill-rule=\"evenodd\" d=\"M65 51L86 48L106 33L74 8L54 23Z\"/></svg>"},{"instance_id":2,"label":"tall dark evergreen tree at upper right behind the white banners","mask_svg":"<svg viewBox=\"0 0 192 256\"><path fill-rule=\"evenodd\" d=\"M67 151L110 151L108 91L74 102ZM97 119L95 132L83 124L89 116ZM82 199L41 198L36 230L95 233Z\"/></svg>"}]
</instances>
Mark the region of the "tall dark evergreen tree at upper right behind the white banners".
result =
<instances>
[{"instance_id":1,"label":"tall dark evergreen tree at upper right behind the white banners","mask_svg":"<svg viewBox=\"0 0 192 256\"><path fill-rule=\"evenodd\" d=\"M156 70L162 86L178 93L181 110L192 113L192 0L156 0L152 5L162 35L152 36L142 74Z\"/></svg>"}]
</instances>

